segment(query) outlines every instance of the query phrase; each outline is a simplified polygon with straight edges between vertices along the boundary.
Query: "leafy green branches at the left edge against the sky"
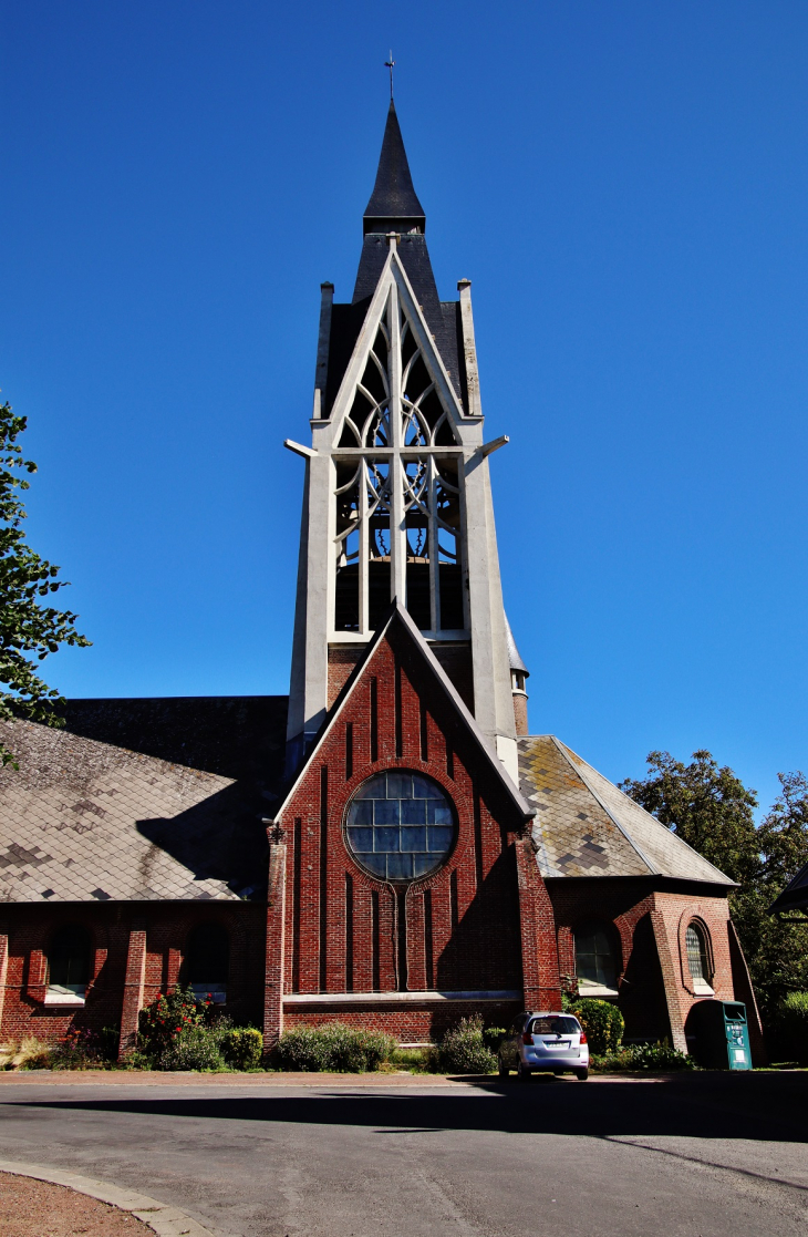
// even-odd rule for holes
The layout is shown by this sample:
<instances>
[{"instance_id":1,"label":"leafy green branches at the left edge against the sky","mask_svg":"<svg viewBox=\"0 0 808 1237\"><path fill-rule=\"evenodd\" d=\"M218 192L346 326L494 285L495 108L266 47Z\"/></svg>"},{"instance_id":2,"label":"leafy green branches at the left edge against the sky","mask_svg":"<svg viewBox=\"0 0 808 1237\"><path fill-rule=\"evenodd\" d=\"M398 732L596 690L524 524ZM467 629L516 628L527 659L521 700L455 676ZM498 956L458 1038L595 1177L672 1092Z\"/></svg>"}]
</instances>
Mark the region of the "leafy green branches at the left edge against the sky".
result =
<instances>
[{"instance_id":1,"label":"leafy green branches at the left edge against the sky","mask_svg":"<svg viewBox=\"0 0 808 1237\"><path fill-rule=\"evenodd\" d=\"M0 404L0 719L61 726L62 698L40 677L37 662L61 644L86 647L90 641L75 630L77 615L43 602L68 581L57 579L59 568L40 558L22 531L22 491L30 487L25 474L37 470L17 443L25 427L26 418L15 417L10 403ZM17 768L2 742L0 763Z\"/></svg>"}]
</instances>

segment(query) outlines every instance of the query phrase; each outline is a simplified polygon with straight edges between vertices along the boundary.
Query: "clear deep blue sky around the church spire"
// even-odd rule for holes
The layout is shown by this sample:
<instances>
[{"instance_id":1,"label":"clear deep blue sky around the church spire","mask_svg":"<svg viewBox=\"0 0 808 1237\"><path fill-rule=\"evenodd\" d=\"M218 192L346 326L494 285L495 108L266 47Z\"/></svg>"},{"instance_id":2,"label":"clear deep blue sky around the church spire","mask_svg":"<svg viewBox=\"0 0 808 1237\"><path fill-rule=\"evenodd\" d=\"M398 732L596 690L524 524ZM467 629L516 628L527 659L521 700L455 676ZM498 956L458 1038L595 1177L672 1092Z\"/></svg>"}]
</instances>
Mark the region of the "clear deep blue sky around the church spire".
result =
<instances>
[{"instance_id":1,"label":"clear deep blue sky around the church spire","mask_svg":"<svg viewBox=\"0 0 808 1237\"><path fill-rule=\"evenodd\" d=\"M319 285L397 105L472 280L530 719L613 778L806 768L804 0L27 0L0 386L74 696L284 693Z\"/></svg>"}]
</instances>

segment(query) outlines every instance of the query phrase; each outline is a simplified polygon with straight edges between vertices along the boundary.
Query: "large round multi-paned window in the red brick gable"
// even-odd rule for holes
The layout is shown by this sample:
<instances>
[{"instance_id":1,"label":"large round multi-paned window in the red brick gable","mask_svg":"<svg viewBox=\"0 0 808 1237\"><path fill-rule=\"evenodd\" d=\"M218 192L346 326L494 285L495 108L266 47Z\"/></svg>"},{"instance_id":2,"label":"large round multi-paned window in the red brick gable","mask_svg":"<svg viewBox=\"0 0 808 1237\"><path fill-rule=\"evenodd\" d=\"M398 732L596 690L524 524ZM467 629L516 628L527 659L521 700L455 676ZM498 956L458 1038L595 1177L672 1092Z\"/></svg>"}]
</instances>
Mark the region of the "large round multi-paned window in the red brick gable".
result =
<instances>
[{"instance_id":1,"label":"large round multi-paned window in the red brick gable","mask_svg":"<svg viewBox=\"0 0 808 1237\"><path fill-rule=\"evenodd\" d=\"M377 773L353 795L345 836L373 876L415 881L446 861L455 845L455 813L431 778L402 769Z\"/></svg>"}]
</instances>

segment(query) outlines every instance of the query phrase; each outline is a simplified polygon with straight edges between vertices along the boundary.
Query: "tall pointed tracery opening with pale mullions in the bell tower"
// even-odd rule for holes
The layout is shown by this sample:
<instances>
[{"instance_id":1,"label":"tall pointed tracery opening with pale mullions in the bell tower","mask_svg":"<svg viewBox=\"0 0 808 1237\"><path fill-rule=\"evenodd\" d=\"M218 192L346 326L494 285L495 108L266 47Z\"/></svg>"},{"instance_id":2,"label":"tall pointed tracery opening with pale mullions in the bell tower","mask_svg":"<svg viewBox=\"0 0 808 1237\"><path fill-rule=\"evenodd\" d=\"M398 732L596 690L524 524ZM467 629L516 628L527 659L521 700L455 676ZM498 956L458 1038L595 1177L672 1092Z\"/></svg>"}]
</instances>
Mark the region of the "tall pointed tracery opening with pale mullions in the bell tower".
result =
<instances>
[{"instance_id":1,"label":"tall pointed tracery opening with pale mullions in the bell tower","mask_svg":"<svg viewBox=\"0 0 808 1237\"><path fill-rule=\"evenodd\" d=\"M465 630L460 458L392 283L334 453L336 631L369 633L393 597L421 631Z\"/></svg>"}]
</instances>

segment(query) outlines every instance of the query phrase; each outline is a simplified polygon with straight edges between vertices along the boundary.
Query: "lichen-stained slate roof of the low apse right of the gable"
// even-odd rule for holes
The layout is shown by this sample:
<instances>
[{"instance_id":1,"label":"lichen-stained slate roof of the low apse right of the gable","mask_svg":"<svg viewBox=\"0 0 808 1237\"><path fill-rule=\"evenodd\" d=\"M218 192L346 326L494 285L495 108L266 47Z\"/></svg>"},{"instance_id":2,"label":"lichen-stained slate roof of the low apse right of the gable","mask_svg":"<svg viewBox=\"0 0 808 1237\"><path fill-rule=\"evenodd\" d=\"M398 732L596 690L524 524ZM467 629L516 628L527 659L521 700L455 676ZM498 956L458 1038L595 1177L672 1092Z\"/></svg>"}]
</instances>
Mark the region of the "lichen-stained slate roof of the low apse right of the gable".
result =
<instances>
[{"instance_id":1,"label":"lichen-stained slate roof of the low apse right of the gable","mask_svg":"<svg viewBox=\"0 0 808 1237\"><path fill-rule=\"evenodd\" d=\"M544 877L650 875L734 884L555 735L525 736L518 746Z\"/></svg>"}]
</instances>

